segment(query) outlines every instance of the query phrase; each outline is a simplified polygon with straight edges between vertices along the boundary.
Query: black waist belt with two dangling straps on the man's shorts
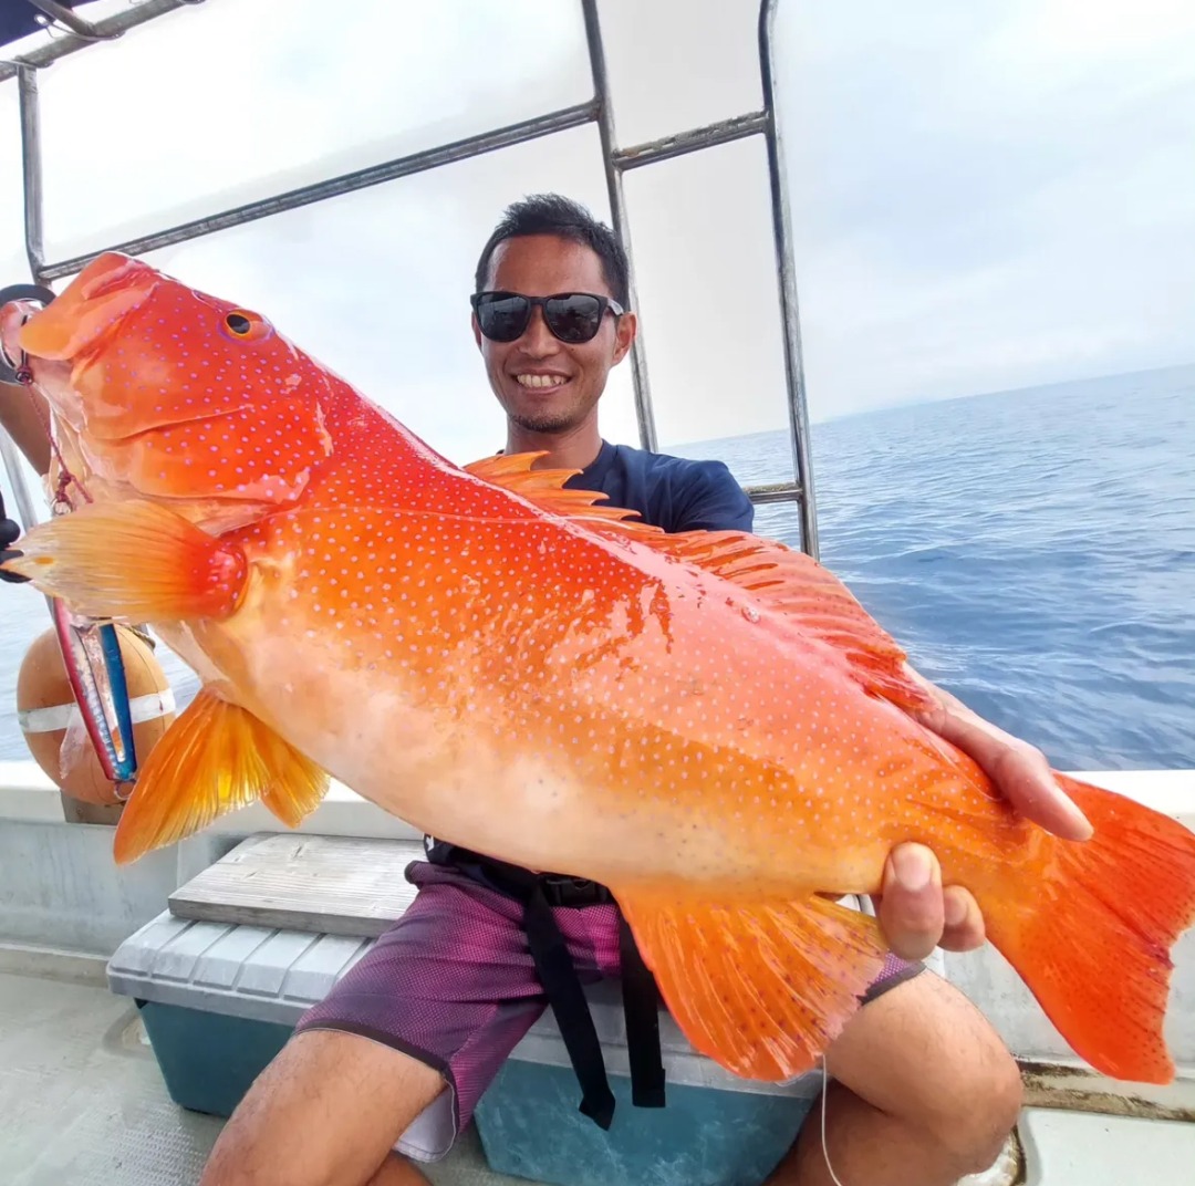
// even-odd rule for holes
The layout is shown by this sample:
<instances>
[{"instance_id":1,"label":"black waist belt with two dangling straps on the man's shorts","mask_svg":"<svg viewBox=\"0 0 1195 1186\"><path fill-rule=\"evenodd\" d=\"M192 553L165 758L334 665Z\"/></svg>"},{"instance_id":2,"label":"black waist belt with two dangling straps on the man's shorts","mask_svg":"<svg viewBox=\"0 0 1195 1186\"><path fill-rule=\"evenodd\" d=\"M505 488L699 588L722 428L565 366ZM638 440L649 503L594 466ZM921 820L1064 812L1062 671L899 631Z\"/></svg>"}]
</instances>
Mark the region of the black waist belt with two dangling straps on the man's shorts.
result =
<instances>
[{"instance_id":1,"label":"black waist belt with two dangling straps on the man's shorts","mask_svg":"<svg viewBox=\"0 0 1195 1186\"><path fill-rule=\"evenodd\" d=\"M581 1084L581 1112L602 1129L614 1119L614 1093L584 989L569 955L552 910L613 903L603 885L554 873L532 873L468 849L436 841L427 846L434 865L451 865L523 904L523 930L535 972L560 1027L564 1049ZM664 1106L664 1068L660 1050L660 990L619 915L619 954L623 965L623 1013L631 1067L631 1102L636 1107Z\"/></svg>"}]
</instances>

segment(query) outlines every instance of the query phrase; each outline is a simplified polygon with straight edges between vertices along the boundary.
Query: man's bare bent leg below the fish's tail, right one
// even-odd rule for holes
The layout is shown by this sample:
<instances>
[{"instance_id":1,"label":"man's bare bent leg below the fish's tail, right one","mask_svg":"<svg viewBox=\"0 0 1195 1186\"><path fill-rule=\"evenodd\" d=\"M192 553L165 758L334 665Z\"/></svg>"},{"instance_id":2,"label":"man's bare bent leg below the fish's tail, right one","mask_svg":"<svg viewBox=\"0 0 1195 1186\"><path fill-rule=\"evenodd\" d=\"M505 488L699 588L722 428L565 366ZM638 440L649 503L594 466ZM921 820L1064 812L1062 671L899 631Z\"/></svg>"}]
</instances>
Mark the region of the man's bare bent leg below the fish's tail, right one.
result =
<instances>
[{"instance_id":1,"label":"man's bare bent leg below the fish's tail, right one","mask_svg":"<svg viewBox=\"0 0 1195 1186\"><path fill-rule=\"evenodd\" d=\"M921 972L864 1006L826 1053L833 1076L768 1186L954 1186L1017 1123L1021 1075L982 1014Z\"/></svg>"}]
</instances>

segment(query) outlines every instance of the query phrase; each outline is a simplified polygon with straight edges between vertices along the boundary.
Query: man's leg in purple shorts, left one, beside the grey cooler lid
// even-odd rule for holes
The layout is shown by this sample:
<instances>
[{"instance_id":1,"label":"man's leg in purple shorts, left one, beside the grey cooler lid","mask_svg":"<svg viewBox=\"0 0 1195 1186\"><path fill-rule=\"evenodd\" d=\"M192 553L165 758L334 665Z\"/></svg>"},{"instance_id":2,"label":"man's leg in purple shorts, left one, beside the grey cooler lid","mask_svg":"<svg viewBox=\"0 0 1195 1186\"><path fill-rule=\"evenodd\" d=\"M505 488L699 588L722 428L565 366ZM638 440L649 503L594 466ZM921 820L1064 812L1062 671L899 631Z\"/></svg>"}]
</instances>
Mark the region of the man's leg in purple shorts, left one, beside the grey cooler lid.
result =
<instances>
[{"instance_id":1,"label":"man's leg in purple shorts, left one, beside the grey cooler lid","mask_svg":"<svg viewBox=\"0 0 1195 1186\"><path fill-rule=\"evenodd\" d=\"M225 1126L201 1186L422 1184L391 1149L446 1154L543 1013L522 908L425 862L409 875L415 902L304 1015Z\"/></svg>"}]
</instances>

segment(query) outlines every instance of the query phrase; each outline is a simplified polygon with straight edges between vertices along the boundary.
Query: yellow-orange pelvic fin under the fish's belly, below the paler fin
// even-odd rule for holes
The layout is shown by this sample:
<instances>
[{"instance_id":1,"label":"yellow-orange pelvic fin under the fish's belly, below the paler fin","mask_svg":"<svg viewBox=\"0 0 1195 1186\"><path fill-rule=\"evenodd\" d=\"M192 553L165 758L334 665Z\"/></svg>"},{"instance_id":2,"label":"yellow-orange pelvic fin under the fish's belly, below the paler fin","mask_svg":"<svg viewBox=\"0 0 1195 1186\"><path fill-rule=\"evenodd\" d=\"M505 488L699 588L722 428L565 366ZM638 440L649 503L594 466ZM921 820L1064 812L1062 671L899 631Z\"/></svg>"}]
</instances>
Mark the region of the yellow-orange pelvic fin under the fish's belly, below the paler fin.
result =
<instances>
[{"instance_id":1,"label":"yellow-orange pelvic fin under the fish's belly, below the paler fin","mask_svg":"<svg viewBox=\"0 0 1195 1186\"><path fill-rule=\"evenodd\" d=\"M116 862L173 844L257 799L296 828L327 784L327 774L269 725L202 688L137 775L116 828Z\"/></svg>"}]
</instances>

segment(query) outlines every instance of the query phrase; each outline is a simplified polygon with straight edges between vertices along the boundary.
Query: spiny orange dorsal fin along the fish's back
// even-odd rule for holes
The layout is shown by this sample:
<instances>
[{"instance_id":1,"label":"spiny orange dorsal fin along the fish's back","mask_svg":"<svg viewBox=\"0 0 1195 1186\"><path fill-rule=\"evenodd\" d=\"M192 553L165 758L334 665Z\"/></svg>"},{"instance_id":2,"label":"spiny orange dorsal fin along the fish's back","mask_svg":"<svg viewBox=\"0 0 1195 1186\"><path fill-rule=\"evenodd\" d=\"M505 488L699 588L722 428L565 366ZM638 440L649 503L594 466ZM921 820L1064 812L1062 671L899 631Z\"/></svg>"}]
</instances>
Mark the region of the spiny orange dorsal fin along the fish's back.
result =
<instances>
[{"instance_id":1,"label":"spiny orange dorsal fin along the fish's back","mask_svg":"<svg viewBox=\"0 0 1195 1186\"><path fill-rule=\"evenodd\" d=\"M909 676L905 651L854 595L813 557L749 531L668 534L638 521L636 511L594 505L606 496L564 490L576 469L532 469L544 453L498 454L465 469L521 494L537 506L583 523L599 534L631 539L750 592L760 609L783 614L804 634L832 647L851 674L902 708L926 709L930 694Z\"/></svg>"}]
</instances>

